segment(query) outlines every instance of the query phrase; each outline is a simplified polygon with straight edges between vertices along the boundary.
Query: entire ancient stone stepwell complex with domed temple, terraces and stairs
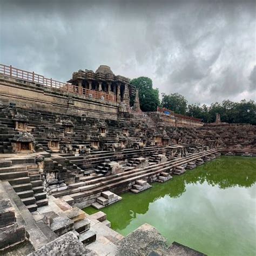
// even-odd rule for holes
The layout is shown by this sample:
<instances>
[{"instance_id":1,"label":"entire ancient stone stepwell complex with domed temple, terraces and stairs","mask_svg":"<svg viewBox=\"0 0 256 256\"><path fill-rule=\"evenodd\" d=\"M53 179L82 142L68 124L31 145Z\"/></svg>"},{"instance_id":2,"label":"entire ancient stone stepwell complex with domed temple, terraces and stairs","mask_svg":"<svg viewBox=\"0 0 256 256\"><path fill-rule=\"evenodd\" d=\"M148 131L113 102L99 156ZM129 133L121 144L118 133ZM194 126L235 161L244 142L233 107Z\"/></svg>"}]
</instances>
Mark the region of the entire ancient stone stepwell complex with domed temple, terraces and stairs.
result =
<instances>
[{"instance_id":1,"label":"entire ancient stone stepwell complex with domed temple, terraces and stairs","mask_svg":"<svg viewBox=\"0 0 256 256\"><path fill-rule=\"evenodd\" d=\"M4 65L0 72L1 253L76 244L76 255L122 255L132 236L111 230L103 212L81 209L116 203L120 192L150 189L220 153L256 154L255 126L143 113L130 80L108 66L79 70L69 83ZM174 244L156 252L174 247L189 251Z\"/></svg>"}]
</instances>

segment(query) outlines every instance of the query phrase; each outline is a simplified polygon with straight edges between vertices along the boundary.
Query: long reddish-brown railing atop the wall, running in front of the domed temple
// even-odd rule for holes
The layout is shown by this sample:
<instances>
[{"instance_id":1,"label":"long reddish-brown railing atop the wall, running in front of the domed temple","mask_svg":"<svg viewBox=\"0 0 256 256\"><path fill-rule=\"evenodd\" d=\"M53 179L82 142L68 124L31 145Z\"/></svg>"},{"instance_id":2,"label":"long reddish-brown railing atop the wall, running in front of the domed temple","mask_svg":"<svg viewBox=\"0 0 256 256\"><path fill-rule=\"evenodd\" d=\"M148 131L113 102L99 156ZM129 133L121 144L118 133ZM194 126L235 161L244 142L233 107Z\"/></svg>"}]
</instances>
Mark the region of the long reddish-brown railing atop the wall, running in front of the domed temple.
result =
<instances>
[{"instance_id":1,"label":"long reddish-brown railing atop the wall, running in front of the domed temple","mask_svg":"<svg viewBox=\"0 0 256 256\"><path fill-rule=\"evenodd\" d=\"M103 99L111 102L116 102L116 96L108 94L106 92L93 91L93 90L85 89L83 87L78 87L73 84L59 82L57 80L53 80L52 78L45 78L44 76L38 75L35 72L16 69L11 65L6 66L3 64L0 64L0 73L6 76L26 80L28 82L42 84L46 87L56 88L64 91L69 91L72 93L78 93L79 95L85 95L87 97L91 97L95 99Z\"/></svg>"}]
</instances>

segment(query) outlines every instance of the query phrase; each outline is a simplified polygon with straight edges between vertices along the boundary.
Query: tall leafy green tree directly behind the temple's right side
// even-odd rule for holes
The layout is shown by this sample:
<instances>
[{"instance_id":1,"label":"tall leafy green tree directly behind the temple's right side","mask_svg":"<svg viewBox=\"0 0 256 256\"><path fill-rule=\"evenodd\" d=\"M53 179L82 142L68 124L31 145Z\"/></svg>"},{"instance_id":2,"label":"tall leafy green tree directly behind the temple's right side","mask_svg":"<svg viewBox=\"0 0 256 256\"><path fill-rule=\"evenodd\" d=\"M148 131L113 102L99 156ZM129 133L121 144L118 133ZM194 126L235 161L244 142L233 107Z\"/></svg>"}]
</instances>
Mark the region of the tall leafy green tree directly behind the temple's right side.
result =
<instances>
[{"instance_id":1,"label":"tall leafy green tree directly behind the temple's right side","mask_svg":"<svg viewBox=\"0 0 256 256\"><path fill-rule=\"evenodd\" d=\"M152 80L149 77L138 77L132 79L131 84L139 90L140 109L144 112L157 111L160 105L159 91L153 89ZM131 106L133 102L134 96L130 100Z\"/></svg>"}]
</instances>

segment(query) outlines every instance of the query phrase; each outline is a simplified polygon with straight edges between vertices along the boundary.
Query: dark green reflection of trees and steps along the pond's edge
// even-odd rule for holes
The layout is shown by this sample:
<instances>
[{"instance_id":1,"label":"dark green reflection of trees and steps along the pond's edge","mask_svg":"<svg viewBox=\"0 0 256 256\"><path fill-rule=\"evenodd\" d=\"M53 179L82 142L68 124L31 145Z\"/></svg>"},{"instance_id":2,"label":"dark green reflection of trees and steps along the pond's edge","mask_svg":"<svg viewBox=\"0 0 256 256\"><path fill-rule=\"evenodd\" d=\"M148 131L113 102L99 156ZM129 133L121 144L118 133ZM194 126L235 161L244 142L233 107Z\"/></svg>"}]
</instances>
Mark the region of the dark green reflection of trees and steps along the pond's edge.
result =
<instances>
[{"instance_id":1,"label":"dark green reflection of trees and steps along the pond's edge","mask_svg":"<svg viewBox=\"0 0 256 256\"><path fill-rule=\"evenodd\" d=\"M137 195L125 193L122 195L123 200L120 203L106 207L103 211L111 220L112 228L122 231L130 225L133 219L138 217L138 214L146 214L150 204L159 201L157 205L161 211L161 204L167 205L170 204L170 201L160 201L159 199L165 197L177 199L184 194L188 186L208 184L211 187L218 186L220 190L231 187L251 187L256 180L255 160L242 157L221 157L188 171L182 176L176 176L164 184L154 184L148 191ZM207 187L204 186L203 189L207 191ZM186 203L189 204L190 202ZM208 201L204 201L204 204L207 203Z\"/></svg>"}]
</instances>

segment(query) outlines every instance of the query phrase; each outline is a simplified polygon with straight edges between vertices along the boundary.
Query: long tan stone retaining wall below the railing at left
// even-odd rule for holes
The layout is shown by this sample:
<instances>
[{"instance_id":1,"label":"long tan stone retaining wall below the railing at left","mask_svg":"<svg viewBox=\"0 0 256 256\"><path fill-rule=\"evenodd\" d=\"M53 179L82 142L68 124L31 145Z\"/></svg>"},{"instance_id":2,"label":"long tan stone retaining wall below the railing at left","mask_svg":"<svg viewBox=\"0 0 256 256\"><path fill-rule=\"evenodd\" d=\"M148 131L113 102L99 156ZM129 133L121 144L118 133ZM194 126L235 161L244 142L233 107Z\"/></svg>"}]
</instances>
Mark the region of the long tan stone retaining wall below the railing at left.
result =
<instances>
[{"instance_id":1,"label":"long tan stone retaining wall below the railing at left","mask_svg":"<svg viewBox=\"0 0 256 256\"><path fill-rule=\"evenodd\" d=\"M31 110L117 119L118 104L0 75L0 104Z\"/></svg>"}]
</instances>

